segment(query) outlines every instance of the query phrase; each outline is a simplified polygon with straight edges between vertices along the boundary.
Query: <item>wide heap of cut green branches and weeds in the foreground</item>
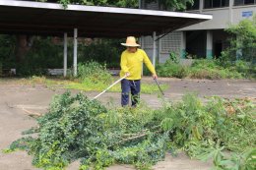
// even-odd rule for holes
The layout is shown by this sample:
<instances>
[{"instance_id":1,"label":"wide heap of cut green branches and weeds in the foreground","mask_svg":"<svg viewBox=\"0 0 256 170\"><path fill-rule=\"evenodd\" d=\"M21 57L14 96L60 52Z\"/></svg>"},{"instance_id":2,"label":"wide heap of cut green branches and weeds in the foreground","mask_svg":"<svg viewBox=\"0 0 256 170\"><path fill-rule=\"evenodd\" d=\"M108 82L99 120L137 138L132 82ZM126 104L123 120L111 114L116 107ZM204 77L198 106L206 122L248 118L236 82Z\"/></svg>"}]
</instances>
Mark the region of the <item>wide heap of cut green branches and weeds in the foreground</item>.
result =
<instances>
[{"instance_id":1,"label":"wide heap of cut green branches and weeds in the foreground","mask_svg":"<svg viewBox=\"0 0 256 170\"><path fill-rule=\"evenodd\" d=\"M10 145L6 152L25 149L32 164L64 169L81 160L81 170L103 169L114 163L150 169L165 153L184 150L191 157L213 158L216 169L255 167L255 105L249 100L214 97L206 104L193 94L153 110L108 108L79 93L57 95L38 128ZM228 152L228 154L225 154Z\"/></svg>"}]
</instances>

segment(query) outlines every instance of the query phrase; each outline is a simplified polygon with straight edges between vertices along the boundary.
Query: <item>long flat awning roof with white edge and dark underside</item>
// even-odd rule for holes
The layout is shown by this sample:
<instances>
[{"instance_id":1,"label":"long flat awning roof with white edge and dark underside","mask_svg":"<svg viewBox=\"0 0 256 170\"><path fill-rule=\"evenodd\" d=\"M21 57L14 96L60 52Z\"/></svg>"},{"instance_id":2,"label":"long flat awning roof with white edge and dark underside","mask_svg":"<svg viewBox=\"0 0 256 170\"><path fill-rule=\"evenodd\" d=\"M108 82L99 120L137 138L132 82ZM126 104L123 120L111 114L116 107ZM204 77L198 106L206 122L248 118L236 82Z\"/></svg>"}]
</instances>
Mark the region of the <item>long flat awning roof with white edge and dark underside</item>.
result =
<instances>
[{"instance_id":1,"label":"long flat awning roof with white edge and dark underside","mask_svg":"<svg viewBox=\"0 0 256 170\"><path fill-rule=\"evenodd\" d=\"M39 35L73 34L84 37L126 37L152 35L211 20L211 15L141 9L0 1L0 33Z\"/></svg>"}]
</instances>

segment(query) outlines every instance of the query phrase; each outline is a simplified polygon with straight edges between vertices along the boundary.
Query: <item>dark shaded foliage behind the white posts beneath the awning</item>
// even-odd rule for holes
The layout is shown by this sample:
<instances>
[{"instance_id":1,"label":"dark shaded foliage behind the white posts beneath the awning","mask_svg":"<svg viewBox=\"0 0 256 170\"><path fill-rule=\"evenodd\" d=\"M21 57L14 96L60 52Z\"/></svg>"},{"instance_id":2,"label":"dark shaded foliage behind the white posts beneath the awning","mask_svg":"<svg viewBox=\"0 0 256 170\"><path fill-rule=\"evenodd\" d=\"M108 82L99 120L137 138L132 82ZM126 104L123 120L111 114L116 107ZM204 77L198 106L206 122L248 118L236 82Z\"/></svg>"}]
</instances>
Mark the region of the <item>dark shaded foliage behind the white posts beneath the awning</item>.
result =
<instances>
[{"instance_id":1,"label":"dark shaded foliage behind the white posts beneath the awning","mask_svg":"<svg viewBox=\"0 0 256 170\"><path fill-rule=\"evenodd\" d=\"M0 35L0 61L4 69L16 68L20 76L47 75L45 69L63 68L63 44L53 43L52 37L31 37L29 51L20 63L16 61L17 40L14 35ZM73 44L68 39L68 68L72 67ZM81 41L83 39L80 39ZM79 42L81 42L79 41ZM108 63L107 67L118 67L120 54L123 48L120 46L123 39L98 39L92 44L79 43L78 61L86 63L96 60L98 63Z\"/></svg>"}]
</instances>

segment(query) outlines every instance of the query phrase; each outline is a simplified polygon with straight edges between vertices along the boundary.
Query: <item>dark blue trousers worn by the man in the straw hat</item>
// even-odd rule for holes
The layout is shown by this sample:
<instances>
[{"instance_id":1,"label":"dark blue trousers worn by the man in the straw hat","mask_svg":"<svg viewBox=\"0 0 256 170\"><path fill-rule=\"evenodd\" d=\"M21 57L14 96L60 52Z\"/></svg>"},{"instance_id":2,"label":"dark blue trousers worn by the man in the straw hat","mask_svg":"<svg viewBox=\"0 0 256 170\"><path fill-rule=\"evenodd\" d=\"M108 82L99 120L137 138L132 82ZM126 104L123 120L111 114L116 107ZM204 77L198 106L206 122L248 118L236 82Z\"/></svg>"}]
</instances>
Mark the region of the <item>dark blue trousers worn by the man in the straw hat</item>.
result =
<instances>
[{"instance_id":1,"label":"dark blue trousers worn by the man in the straw hat","mask_svg":"<svg viewBox=\"0 0 256 170\"><path fill-rule=\"evenodd\" d=\"M140 91L141 91L141 80L130 81L130 80L122 80L122 96L121 96L121 104L122 106L127 106L129 104L129 93L131 92L131 100L132 106L136 106L140 101Z\"/></svg>"}]
</instances>

